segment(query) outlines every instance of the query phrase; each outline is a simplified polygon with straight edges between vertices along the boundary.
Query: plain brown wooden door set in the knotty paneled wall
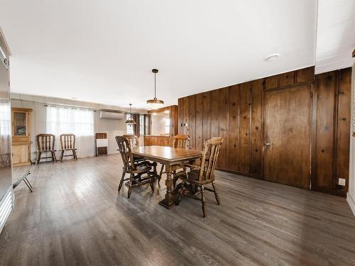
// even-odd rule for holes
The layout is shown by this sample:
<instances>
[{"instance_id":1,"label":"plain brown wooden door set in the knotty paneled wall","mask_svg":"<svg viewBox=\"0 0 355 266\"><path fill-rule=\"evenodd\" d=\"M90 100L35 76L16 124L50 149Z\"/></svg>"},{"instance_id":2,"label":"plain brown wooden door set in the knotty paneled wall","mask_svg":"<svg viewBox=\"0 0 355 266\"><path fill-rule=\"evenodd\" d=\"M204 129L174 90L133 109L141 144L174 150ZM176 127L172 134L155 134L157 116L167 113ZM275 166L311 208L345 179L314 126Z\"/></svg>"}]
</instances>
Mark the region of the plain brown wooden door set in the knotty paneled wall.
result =
<instances>
[{"instance_id":1,"label":"plain brown wooden door set in the knotty paneled wall","mask_svg":"<svg viewBox=\"0 0 355 266\"><path fill-rule=\"evenodd\" d=\"M265 93L264 176L310 187L312 85Z\"/></svg>"}]
</instances>

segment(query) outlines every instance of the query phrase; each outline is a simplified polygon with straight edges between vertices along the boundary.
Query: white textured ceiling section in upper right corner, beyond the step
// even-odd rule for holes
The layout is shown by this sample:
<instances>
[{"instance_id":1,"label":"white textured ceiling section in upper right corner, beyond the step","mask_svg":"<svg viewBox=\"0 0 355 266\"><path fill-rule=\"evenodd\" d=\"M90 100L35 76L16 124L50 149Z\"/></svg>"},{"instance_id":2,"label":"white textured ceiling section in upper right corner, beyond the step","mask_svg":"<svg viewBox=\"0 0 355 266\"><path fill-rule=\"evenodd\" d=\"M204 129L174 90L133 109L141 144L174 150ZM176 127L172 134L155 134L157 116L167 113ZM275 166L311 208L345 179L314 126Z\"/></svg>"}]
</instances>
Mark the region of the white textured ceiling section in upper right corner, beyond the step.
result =
<instances>
[{"instance_id":1,"label":"white textured ceiling section in upper right corner, beyond the step","mask_svg":"<svg viewBox=\"0 0 355 266\"><path fill-rule=\"evenodd\" d=\"M355 1L319 0L316 73L351 67L355 48Z\"/></svg>"}]
</instances>

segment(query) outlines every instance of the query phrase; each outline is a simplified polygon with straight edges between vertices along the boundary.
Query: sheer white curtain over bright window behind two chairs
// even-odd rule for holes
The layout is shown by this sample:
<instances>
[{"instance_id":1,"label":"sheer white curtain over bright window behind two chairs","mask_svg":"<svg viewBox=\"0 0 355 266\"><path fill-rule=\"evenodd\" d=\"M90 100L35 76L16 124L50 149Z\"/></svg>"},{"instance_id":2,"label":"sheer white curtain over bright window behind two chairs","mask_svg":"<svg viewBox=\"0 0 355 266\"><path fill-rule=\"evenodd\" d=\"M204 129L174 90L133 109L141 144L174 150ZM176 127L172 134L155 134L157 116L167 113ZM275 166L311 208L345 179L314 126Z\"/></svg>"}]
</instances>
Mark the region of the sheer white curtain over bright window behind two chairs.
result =
<instances>
[{"instance_id":1,"label":"sheer white curtain over bright window behind two chairs","mask_svg":"<svg viewBox=\"0 0 355 266\"><path fill-rule=\"evenodd\" d=\"M60 134L75 134L78 157L94 156L94 111L47 106L46 131L55 135L55 146L60 148Z\"/></svg>"}]
</instances>

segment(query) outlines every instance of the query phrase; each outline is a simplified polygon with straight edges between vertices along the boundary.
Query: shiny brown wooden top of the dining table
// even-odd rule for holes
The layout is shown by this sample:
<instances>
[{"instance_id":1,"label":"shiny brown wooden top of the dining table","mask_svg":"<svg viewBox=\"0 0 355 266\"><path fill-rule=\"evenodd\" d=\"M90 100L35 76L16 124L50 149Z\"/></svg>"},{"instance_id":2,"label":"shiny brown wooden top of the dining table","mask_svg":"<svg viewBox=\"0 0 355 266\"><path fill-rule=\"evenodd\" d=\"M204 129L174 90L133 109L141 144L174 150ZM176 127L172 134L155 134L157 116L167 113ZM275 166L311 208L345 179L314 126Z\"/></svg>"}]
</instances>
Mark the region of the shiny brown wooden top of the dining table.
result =
<instances>
[{"instance_id":1,"label":"shiny brown wooden top of the dining table","mask_svg":"<svg viewBox=\"0 0 355 266\"><path fill-rule=\"evenodd\" d=\"M200 150L187 150L168 146L139 146L133 148L132 153L163 164L179 163L201 157Z\"/></svg>"}]
</instances>

